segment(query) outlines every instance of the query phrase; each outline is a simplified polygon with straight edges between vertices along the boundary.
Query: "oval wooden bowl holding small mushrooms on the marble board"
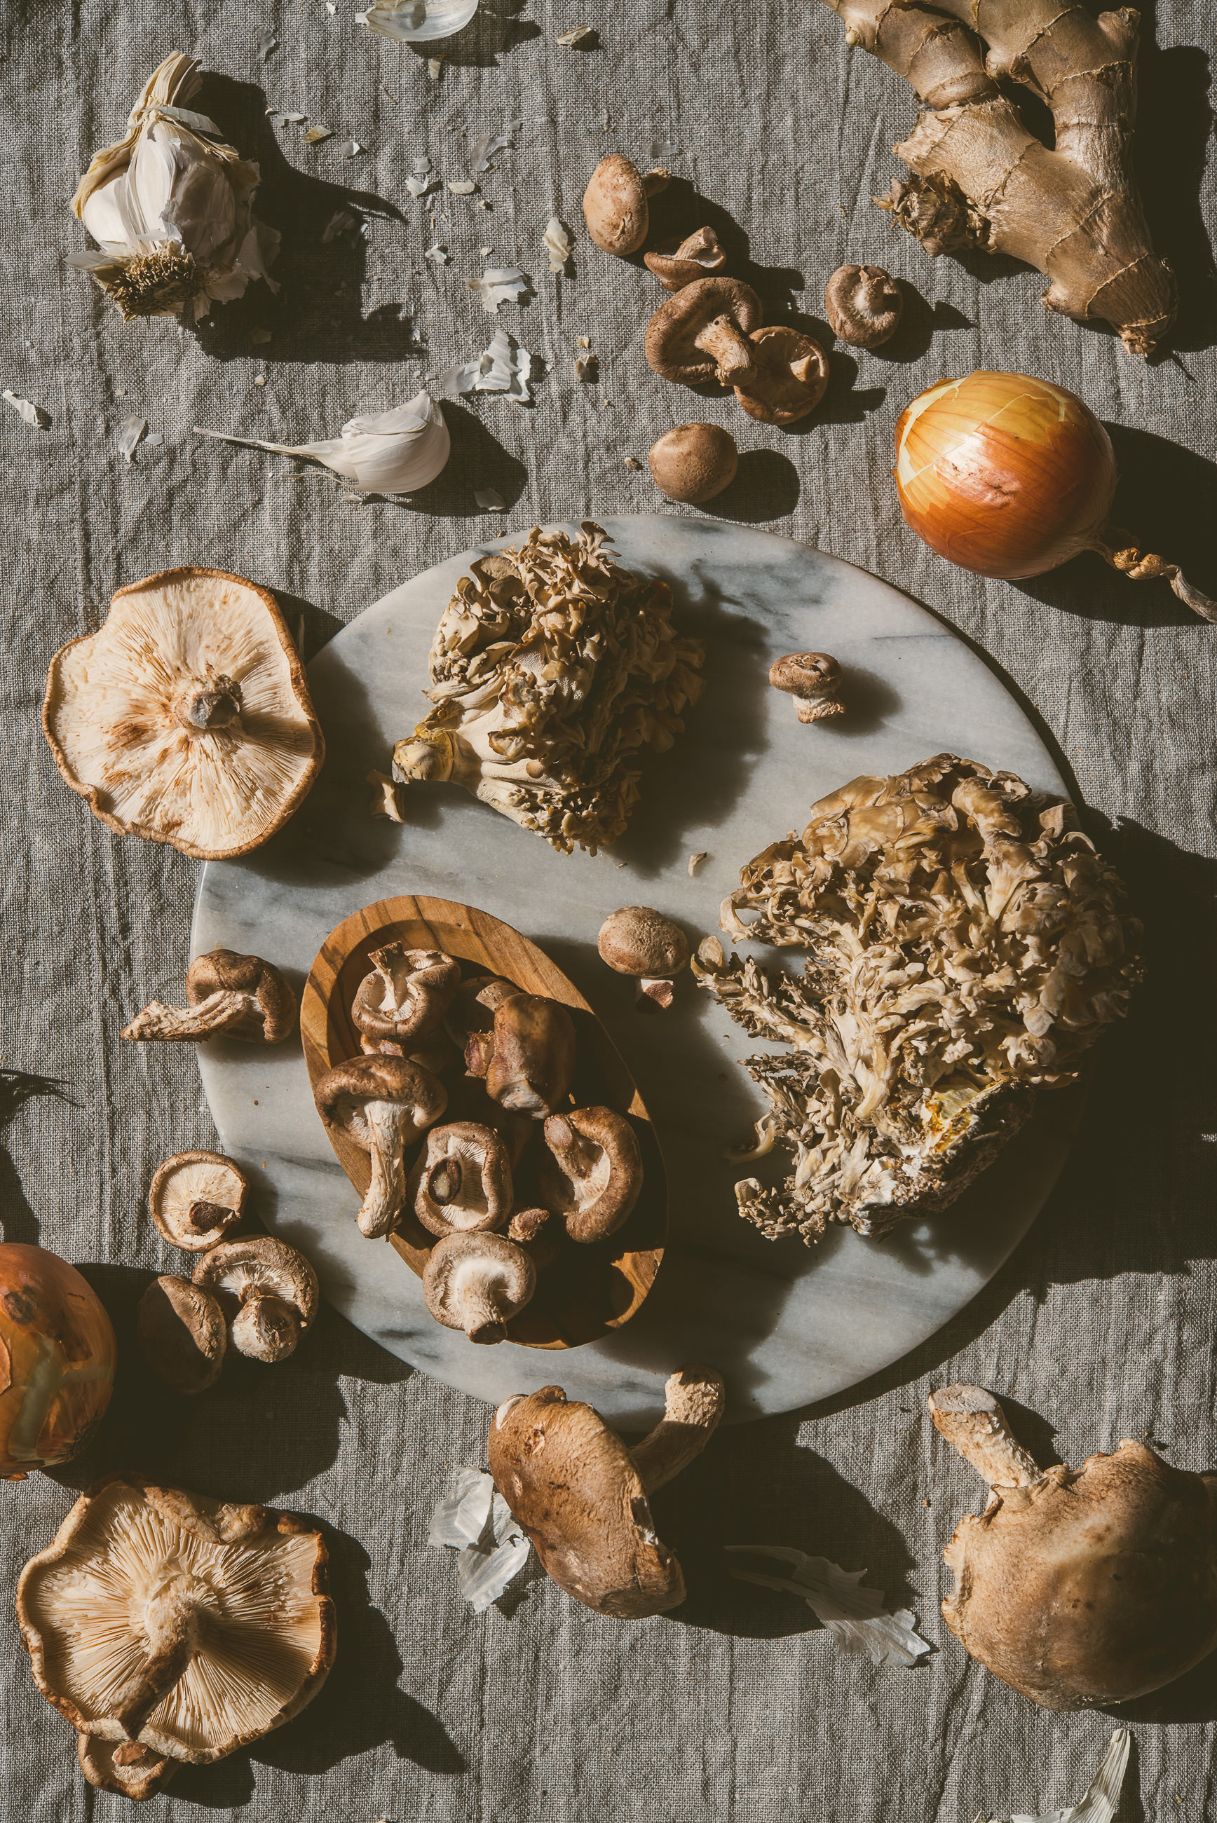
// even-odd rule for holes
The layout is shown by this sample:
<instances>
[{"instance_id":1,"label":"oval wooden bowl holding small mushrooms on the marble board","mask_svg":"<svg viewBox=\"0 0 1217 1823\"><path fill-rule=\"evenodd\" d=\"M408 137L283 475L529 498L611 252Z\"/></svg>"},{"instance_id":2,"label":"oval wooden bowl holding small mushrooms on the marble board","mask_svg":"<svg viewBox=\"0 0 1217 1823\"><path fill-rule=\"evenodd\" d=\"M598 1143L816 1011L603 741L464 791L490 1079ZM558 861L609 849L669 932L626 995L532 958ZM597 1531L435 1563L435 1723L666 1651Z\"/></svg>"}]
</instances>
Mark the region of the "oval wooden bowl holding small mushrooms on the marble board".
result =
<instances>
[{"instance_id":1,"label":"oval wooden bowl holding small mushrooms on the marble board","mask_svg":"<svg viewBox=\"0 0 1217 1823\"><path fill-rule=\"evenodd\" d=\"M571 1008L578 1037L571 1107L602 1103L629 1116L642 1148L642 1194L617 1234L593 1247L566 1245L555 1263L536 1274L533 1302L511 1318L507 1334L529 1349L575 1349L620 1329L655 1283L668 1227L664 1159L620 1052L578 988L511 924L451 899L380 899L352 912L330 932L308 972L299 1028L314 1087L336 1063L361 1056L350 1004L372 968L369 952L383 942L443 950L462 963L465 975L504 975L524 994L546 994ZM370 1181L367 1152L341 1132L328 1138L339 1165L363 1196ZM538 1143L529 1141L529 1152ZM389 1240L421 1278L436 1236L407 1210Z\"/></svg>"}]
</instances>

